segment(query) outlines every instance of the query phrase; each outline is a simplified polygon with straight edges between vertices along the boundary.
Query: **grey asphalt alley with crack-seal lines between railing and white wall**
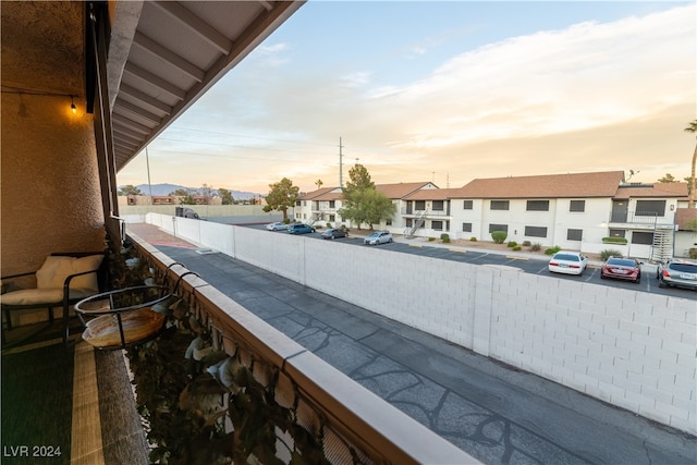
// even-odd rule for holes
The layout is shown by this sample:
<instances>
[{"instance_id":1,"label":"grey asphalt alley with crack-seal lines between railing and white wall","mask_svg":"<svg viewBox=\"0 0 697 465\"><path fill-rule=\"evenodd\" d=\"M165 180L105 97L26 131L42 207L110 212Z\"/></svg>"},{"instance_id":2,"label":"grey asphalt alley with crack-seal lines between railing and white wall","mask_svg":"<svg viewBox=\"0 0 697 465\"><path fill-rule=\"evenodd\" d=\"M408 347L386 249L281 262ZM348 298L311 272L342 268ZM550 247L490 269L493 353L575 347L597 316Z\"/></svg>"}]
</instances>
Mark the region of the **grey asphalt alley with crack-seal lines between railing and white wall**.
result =
<instances>
[{"instance_id":1,"label":"grey asphalt alley with crack-seal lines between railing and white wall","mask_svg":"<svg viewBox=\"0 0 697 465\"><path fill-rule=\"evenodd\" d=\"M697 463L697 438L149 224L129 231L486 464Z\"/></svg>"}]
</instances>

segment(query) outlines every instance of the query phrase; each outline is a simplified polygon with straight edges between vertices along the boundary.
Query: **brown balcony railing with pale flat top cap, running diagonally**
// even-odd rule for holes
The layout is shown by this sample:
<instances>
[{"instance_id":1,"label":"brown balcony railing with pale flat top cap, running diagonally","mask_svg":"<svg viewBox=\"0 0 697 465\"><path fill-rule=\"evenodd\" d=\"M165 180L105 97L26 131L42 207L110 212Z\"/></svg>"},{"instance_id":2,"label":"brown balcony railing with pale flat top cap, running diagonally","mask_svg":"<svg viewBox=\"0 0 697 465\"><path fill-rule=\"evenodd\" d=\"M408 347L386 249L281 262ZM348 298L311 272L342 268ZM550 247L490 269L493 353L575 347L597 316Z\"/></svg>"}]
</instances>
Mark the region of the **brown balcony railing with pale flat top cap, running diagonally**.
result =
<instances>
[{"instance_id":1,"label":"brown balcony railing with pale flat top cap, running diagonally","mask_svg":"<svg viewBox=\"0 0 697 465\"><path fill-rule=\"evenodd\" d=\"M184 276L183 266L151 245L132 240L139 259L155 276L181 281L178 294L199 321L206 321L216 348L246 365L255 379L272 384L269 392L274 401L292 409L293 431L302 428L315 437L329 463L479 463L206 281L192 273ZM224 428L233 429L229 421ZM278 426L276 431L283 444L277 456L290 463L296 454L297 436Z\"/></svg>"}]
</instances>

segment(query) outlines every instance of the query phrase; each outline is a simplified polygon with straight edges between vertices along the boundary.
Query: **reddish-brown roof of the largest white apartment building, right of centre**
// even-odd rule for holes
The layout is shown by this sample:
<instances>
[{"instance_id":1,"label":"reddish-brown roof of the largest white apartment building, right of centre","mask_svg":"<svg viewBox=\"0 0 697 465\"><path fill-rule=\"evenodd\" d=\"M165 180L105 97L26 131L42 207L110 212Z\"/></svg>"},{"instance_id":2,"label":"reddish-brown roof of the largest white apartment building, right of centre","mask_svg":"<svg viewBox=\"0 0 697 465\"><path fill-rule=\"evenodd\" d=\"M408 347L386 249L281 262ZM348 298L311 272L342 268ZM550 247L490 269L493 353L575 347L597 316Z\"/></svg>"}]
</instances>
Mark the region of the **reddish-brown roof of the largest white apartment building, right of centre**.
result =
<instances>
[{"instance_id":1,"label":"reddish-brown roof of the largest white apartment building, right of centre","mask_svg":"<svg viewBox=\"0 0 697 465\"><path fill-rule=\"evenodd\" d=\"M614 197L622 171L545 174L474 180L452 198L575 198Z\"/></svg>"}]
</instances>

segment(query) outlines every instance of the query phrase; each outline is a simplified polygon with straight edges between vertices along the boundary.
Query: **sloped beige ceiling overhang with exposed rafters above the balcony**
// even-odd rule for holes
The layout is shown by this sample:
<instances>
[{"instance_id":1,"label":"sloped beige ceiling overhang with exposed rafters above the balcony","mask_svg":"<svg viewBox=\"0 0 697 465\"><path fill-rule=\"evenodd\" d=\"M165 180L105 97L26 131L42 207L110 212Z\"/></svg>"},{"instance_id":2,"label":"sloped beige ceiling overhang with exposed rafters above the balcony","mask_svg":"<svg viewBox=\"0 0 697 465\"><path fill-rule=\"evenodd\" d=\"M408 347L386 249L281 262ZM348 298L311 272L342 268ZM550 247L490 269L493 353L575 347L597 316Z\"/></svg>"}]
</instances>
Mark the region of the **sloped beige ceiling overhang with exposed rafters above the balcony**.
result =
<instances>
[{"instance_id":1,"label":"sloped beige ceiling overhang with exposed rafters above the balcony","mask_svg":"<svg viewBox=\"0 0 697 465\"><path fill-rule=\"evenodd\" d=\"M304 2L111 2L107 69L117 171Z\"/></svg>"}]
</instances>

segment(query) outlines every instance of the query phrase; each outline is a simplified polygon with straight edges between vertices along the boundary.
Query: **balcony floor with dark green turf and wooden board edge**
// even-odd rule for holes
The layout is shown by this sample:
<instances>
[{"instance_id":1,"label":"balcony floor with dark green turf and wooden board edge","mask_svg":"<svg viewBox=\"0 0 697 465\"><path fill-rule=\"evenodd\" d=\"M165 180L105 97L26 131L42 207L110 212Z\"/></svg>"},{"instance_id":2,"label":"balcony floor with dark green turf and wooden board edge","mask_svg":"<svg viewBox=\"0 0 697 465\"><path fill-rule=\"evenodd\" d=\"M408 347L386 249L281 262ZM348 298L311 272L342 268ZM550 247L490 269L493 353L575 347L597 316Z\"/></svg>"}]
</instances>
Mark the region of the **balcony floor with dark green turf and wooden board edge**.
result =
<instances>
[{"instance_id":1,"label":"balcony floor with dark green turf and wooden board edge","mask_svg":"<svg viewBox=\"0 0 697 465\"><path fill-rule=\"evenodd\" d=\"M2 463L149 463L122 352L95 351L77 327L65 347L56 321L7 333Z\"/></svg>"}]
</instances>

